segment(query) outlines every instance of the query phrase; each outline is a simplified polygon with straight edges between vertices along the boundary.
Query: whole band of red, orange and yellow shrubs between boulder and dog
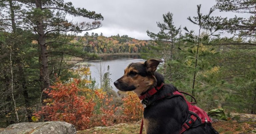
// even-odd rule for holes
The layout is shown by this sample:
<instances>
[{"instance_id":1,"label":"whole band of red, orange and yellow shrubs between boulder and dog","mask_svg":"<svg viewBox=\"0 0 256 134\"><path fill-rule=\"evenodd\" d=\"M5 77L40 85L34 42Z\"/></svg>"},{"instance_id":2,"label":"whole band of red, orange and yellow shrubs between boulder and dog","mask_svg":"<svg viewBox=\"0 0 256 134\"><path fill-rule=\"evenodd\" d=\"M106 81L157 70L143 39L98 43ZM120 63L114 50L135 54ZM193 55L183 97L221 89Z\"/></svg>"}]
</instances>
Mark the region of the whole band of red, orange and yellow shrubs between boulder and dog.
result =
<instances>
[{"instance_id":1,"label":"whole band of red, orange and yellow shrubs between boulder and dog","mask_svg":"<svg viewBox=\"0 0 256 134\"><path fill-rule=\"evenodd\" d=\"M75 74L88 76L90 70L85 67ZM66 121L77 130L84 130L138 121L143 117L143 107L133 92L125 92L122 105L116 106L113 95L107 95L102 89L87 88L91 81L86 77L62 83L56 76L56 81L51 91L45 91L51 98L43 100L44 105L34 112L33 121Z\"/></svg>"}]
</instances>

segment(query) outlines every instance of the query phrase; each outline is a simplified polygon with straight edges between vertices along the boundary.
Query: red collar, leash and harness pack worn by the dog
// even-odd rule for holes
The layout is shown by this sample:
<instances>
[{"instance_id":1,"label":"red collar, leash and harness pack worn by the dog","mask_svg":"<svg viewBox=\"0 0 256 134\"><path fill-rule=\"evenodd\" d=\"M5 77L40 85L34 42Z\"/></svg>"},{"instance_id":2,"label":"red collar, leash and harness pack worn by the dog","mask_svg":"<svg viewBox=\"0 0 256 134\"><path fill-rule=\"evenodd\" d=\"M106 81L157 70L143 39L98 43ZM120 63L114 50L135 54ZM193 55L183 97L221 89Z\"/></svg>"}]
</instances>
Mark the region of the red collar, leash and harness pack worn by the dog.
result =
<instances>
[{"instance_id":1,"label":"red collar, leash and harness pack worn by the dog","mask_svg":"<svg viewBox=\"0 0 256 134\"><path fill-rule=\"evenodd\" d=\"M151 97L158 90L160 90L163 85L164 84L162 83L161 86L152 88L147 93L145 93L145 95L139 96L140 100ZM182 92L182 93L184 93L184 92ZM185 94L187 94L187 93L185 93ZM207 115L207 113L204 110L197 107L196 105L192 105L193 103L187 101L186 98L181 94L181 92L174 91L174 92L168 94L167 96L168 96L168 98L172 98L175 96L182 96L188 105L189 114L188 114L187 120L182 124L179 134L182 134L184 131L188 130L191 127L196 127L196 126L202 125L202 124L205 124L205 129L206 129L206 125L210 124L212 122L212 120L210 119L210 117ZM159 99L165 98L167 96L160 97ZM143 119L141 122L140 134L142 134L142 130L143 130Z\"/></svg>"}]
</instances>

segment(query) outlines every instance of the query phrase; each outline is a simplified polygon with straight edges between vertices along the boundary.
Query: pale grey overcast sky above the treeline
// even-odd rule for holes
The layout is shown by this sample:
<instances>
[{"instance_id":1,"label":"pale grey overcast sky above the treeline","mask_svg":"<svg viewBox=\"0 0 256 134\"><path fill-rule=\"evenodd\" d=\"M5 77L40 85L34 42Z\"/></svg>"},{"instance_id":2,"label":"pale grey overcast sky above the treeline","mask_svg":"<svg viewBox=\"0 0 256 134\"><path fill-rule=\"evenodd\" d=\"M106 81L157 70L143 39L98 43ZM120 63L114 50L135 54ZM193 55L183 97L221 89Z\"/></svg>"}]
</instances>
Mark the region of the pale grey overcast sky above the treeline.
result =
<instances>
[{"instance_id":1,"label":"pale grey overcast sky above the treeline","mask_svg":"<svg viewBox=\"0 0 256 134\"><path fill-rule=\"evenodd\" d=\"M207 14L215 5L215 0L64 0L71 1L75 7L85 8L104 17L102 27L89 33L103 33L104 36L128 35L129 37L148 40L146 31L157 33L156 22L163 22L163 14L173 13L174 25L197 30L198 27L187 20L188 16L197 15L196 5L202 4L201 12ZM234 17L234 13L214 11L212 16ZM238 14L238 16L242 16ZM70 17L71 18L71 17ZM85 18L71 18L74 21L88 21ZM84 34L84 33L83 33ZM82 35L83 35L82 34Z\"/></svg>"}]
</instances>

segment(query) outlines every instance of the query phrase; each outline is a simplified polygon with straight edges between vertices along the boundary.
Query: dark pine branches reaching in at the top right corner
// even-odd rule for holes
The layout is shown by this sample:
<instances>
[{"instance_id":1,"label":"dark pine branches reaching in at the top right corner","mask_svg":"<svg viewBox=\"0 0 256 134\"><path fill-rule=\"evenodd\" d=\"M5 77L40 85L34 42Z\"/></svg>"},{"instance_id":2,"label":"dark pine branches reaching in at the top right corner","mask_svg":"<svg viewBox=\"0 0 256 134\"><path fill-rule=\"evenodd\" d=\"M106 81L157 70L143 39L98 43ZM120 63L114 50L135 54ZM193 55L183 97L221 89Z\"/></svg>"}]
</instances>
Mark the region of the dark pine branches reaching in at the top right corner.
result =
<instances>
[{"instance_id":1,"label":"dark pine branches reaching in at the top right corner","mask_svg":"<svg viewBox=\"0 0 256 134\"><path fill-rule=\"evenodd\" d=\"M256 31L256 11L255 0L216 0L217 4L214 8L219 9L221 12L234 12L239 14L251 14L249 18L237 17L223 18L221 16L211 17L206 25L219 27L231 34L238 35L244 38L254 38Z\"/></svg>"}]
</instances>

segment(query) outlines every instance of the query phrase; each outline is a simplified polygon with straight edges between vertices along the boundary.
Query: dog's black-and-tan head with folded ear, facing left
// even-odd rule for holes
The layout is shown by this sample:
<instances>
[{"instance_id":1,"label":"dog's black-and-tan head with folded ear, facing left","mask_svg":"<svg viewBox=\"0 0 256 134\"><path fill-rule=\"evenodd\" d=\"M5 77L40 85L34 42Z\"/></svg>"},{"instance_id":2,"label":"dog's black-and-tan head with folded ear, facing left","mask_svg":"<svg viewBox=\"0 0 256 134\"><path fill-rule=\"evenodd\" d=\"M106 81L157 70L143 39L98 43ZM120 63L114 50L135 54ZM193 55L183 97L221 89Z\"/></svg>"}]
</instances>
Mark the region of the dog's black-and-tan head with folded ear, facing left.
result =
<instances>
[{"instance_id":1,"label":"dog's black-and-tan head with folded ear, facing left","mask_svg":"<svg viewBox=\"0 0 256 134\"><path fill-rule=\"evenodd\" d=\"M144 63L131 63L114 85L121 91L134 91L139 96L151 86L156 86L157 79L154 72L160 62L163 61L151 59Z\"/></svg>"}]
</instances>

